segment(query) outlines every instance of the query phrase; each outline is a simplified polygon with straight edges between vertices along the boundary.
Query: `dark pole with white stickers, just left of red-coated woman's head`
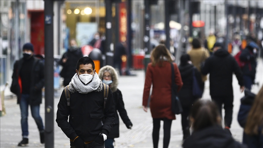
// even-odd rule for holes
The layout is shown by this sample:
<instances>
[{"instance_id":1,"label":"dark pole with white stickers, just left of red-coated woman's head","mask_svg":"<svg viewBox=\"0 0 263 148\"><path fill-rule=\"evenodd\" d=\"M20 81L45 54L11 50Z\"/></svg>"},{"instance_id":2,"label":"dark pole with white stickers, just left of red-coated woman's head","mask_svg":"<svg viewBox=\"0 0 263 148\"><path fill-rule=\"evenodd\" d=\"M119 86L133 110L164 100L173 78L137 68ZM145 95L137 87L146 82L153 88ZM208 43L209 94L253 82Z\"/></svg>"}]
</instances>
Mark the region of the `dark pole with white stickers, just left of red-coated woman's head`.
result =
<instances>
[{"instance_id":1,"label":"dark pole with white stickers, just left of red-coated woman's head","mask_svg":"<svg viewBox=\"0 0 263 148\"><path fill-rule=\"evenodd\" d=\"M144 0L144 70L146 74L147 65L150 62L150 1Z\"/></svg>"}]
</instances>

